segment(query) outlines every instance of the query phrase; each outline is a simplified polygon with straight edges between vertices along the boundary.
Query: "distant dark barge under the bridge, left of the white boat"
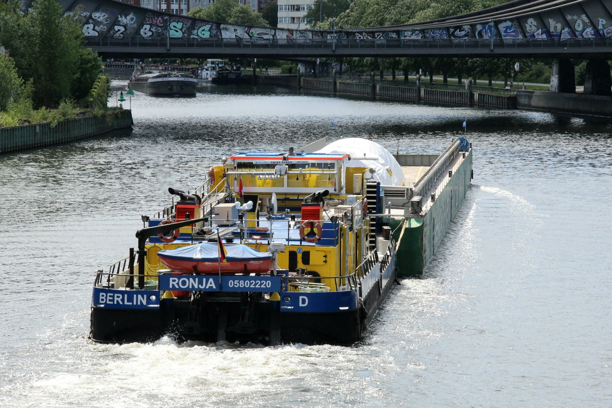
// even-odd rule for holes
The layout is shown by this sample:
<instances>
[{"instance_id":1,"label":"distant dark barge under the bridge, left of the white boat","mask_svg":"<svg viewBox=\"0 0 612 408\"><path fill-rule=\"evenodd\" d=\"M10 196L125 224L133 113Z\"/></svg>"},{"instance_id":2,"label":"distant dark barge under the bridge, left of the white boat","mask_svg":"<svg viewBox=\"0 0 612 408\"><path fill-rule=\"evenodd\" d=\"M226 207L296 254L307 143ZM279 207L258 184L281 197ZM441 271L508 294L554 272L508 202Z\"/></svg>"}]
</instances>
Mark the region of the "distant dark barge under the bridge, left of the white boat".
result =
<instances>
[{"instance_id":1,"label":"distant dark barge under the bridge, left of the white boat","mask_svg":"<svg viewBox=\"0 0 612 408\"><path fill-rule=\"evenodd\" d=\"M147 70L135 71L128 85L151 95L195 95L198 80L190 73Z\"/></svg>"}]
</instances>

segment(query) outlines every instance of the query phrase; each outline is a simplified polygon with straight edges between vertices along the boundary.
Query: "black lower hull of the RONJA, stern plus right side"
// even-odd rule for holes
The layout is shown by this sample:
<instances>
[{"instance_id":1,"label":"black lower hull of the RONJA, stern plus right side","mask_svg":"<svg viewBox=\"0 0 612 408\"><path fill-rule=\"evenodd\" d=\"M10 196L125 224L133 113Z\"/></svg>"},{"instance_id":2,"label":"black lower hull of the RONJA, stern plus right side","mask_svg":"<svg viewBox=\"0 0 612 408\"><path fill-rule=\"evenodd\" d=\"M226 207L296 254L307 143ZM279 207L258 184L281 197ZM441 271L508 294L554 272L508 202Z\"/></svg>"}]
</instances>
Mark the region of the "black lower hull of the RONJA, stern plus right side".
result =
<instances>
[{"instance_id":1,"label":"black lower hull of the RONJA, stern plus right side","mask_svg":"<svg viewBox=\"0 0 612 408\"><path fill-rule=\"evenodd\" d=\"M368 323L394 286L395 260L379 276L368 294L359 300L357 308L351 310L281 311L280 302L246 292L200 292L193 300L187 297L162 300L159 308L148 310L94 306L91 339L100 343L147 343L171 335L179 341L210 343L226 340L230 343L353 344L361 340ZM329 295L334 296L334 292ZM281 293L281 299L283 296Z\"/></svg>"}]
</instances>

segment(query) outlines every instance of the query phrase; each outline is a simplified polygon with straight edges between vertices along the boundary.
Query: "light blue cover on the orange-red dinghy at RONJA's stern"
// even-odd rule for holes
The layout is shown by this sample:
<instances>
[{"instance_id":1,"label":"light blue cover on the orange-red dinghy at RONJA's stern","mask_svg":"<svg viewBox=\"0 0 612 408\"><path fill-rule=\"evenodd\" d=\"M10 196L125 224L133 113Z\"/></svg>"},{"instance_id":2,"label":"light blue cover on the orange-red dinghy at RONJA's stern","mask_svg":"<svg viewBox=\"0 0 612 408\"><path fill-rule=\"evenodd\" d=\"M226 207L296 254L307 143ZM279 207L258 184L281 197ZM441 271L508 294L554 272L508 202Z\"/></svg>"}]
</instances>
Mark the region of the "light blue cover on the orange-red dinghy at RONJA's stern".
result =
<instances>
[{"instance_id":1,"label":"light blue cover on the orange-red dinghy at RONJA's stern","mask_svg":"<svg viewBox=\"0 0 612 408\"><path fill-rule=\"evenodd\" d=\"M247 247L247 245L225 245L228 261L256 261L258 259L270 259L272 254L261 252ZM219 261L219 247L217 243L200 242L187 247L176 248L176 250L163 250L158 256L179 261Z\"/></svg>"}]
</instances>

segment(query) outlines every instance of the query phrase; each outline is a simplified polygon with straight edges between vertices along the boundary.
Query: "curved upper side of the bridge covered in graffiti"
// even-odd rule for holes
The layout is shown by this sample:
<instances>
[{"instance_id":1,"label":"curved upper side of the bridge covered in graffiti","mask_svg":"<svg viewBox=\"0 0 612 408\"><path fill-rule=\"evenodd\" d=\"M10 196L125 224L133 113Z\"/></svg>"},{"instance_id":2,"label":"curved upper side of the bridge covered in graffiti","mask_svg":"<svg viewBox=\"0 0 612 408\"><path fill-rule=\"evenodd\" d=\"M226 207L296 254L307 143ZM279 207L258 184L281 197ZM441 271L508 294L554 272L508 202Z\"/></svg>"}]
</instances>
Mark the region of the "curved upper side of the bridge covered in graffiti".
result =
<instances>
[{"instance_id":1,"label":"curved upper side of the bridge covered in graffiti","mask_svg":"<svg viewBox=\"0 0 612 408\"><path fill-rule=\"evenodd\" d=\"M80 1L73 3L72 9ZM483 21L477 24L449 25L436 28L398 28L397 30L312 31L261 28L199 20L182 15L168 15L136 6L102 0L94 10L83 13L86 37L195 38L244 40L455 40L468 39L594 39L612 37L612 0L590 0L566 4L556 9L540 10L517 17ZM70 11L70 10L69 10Z\"/></svg>"}]
</instances>

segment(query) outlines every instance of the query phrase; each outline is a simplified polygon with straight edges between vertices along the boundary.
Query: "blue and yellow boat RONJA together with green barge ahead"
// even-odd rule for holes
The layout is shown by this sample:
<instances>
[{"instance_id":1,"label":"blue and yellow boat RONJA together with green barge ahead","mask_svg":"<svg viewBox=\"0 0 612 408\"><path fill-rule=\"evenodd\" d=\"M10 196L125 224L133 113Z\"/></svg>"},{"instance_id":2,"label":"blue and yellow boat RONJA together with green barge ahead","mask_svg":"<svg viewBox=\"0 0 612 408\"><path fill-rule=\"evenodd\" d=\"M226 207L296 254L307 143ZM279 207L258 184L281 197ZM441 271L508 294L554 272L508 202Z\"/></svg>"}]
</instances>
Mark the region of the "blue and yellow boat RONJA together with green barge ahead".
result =
<instances>
[{"instance_id":1,"label":"blue and yellow boat RONJA together with green barge ahead","mask_svg":"<svg viewBox=\"0 0 612 408\"><path fill-rule=\"evenodd\" d=\"M463 138L441 155L349 138L223 158L97 272L90 338L356 343L398 272L427 265L470 178Z\"/></svg>"}]
</instances>

